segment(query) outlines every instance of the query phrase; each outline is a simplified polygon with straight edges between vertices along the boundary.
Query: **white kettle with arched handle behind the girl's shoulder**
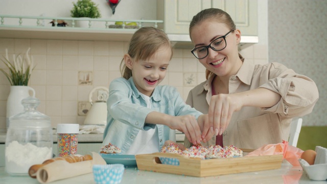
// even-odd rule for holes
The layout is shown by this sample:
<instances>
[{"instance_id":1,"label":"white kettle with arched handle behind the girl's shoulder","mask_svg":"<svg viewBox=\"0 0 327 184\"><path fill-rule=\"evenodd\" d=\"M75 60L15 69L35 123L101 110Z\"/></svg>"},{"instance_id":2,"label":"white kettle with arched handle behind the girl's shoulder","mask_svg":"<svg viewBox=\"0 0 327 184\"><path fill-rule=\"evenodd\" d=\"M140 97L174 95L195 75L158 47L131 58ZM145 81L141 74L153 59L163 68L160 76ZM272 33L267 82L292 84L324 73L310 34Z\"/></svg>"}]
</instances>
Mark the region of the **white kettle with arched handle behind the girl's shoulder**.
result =
<instances>
[{"instance_id":1,"label":"white kettle with arched handle behind the girl's shoulder","mask_svg":"<svg viewBox=\"0 0 327 184\"><path fill-rule=\"evenodd\" d=\"M106 93L98 93L98 100L92 103L92 96L96 90L103 89ZM103 91L102 90L102 91ZM91 90L88 95L88 101L91 103L91 108L86 114L84 125L107 125L107 99L109 89L107 87L99 86Z\"/></svg>"}]
</instances>

